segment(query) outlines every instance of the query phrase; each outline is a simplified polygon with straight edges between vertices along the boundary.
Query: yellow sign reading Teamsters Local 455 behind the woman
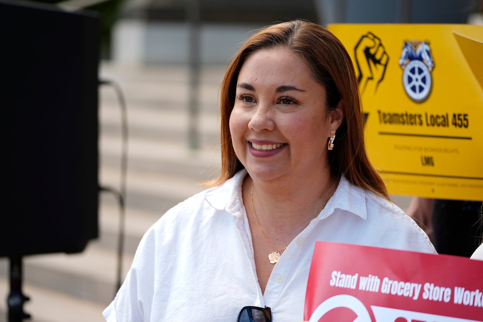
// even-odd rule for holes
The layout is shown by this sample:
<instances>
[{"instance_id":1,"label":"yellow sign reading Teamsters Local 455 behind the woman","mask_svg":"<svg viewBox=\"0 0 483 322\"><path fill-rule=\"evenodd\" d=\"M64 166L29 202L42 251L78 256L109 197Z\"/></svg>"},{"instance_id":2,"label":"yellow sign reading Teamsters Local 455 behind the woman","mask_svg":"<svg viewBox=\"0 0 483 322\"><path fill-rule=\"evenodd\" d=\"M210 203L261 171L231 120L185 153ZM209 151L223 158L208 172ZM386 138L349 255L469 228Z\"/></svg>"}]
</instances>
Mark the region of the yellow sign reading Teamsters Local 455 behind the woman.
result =
<instances>
[{"instance_id":1,"label":"yellow sign reading Teamsters Local 455 behind the woman","mask_svg":"<svg viewBox=\"0 0 483 322\"><path fill-rule=\"evenodd\" d=\"M483 200L483 26L330 25L392 194Z\"/></svg>"}]
</instances>

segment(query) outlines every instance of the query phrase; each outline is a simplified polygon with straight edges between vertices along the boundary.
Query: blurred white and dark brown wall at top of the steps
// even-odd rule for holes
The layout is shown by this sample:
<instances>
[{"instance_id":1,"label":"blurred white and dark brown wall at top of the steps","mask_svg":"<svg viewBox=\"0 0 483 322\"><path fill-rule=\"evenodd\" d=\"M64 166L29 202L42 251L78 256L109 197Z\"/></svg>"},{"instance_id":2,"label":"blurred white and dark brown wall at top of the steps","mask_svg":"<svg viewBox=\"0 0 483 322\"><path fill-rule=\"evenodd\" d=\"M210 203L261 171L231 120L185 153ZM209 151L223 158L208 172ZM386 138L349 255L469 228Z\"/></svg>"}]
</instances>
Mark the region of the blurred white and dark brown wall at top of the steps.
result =
<instances>
[{"instance_id":1,"label":"blurred white and dark brown wall at top of the steps","mask_svg":"<svg viewBox=\"0 0 483 322\"><path fill-rule=\"evenodd\" d=\"M184 64L194 32L199 61L226 64L250 31L296 18L317 19L313 0L127 0L114 28L113 59Z\"/></svg>"}]
</instances>

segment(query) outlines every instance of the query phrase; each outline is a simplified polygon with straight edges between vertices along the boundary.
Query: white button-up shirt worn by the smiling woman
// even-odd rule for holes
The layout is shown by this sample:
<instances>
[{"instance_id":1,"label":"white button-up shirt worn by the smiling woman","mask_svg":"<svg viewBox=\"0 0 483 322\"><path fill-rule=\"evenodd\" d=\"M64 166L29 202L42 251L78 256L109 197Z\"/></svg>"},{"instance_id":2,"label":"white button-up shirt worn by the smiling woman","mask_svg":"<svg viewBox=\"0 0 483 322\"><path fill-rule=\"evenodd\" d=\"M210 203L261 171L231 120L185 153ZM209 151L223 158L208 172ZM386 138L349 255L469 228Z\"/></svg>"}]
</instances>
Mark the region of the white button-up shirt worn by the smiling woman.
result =
<instances>
[{"instance_id":1,"label":"white button-up shirt worn by the smiling woman","mask_svg":"<svg viewBox=\"0 0 483 322\"><path fill-rule=\"evenodd\" d=\"M170 209L144 235L108 322L234 322L244 306L273 322L303 320L315 241L436 253L398 206L341 178L326 207L288 245L262 295L241 196L241 170ZM354 259L356 265L356 259Z\"/></svg>"}]
</instances>

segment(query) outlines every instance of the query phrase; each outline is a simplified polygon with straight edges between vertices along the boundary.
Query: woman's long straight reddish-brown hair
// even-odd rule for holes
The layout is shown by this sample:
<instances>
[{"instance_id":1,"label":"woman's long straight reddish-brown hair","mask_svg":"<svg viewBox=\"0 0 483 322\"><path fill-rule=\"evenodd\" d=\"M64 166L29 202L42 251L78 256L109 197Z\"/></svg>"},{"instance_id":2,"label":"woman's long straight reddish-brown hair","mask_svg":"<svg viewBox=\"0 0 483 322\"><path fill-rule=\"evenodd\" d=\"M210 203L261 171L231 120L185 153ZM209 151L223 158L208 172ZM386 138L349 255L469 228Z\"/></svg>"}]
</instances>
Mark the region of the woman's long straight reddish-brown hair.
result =
<instances>
[{"instance_id":1,"label":"woman's long straight reddish-brown hair","mask_svg":"<svg viewBox=\"0 0 483 322\"><path fill-rule=\"evenodd\" d=\"M352 184L389 199L385 184L366 153L364 114L351 58L330 31L303 20L261 29L242 45L228 67L220 97L222 169L218 179L210 185L223 184L243 168L233 149L229 128L241 66L256 50L279 47L290 49L305 60L314 80L326 89L327 112L334 110L340 101L342 103L345 117L337 130L336 146L328 151L332 175L344 175Z\"/></svg>"}]
</instances>

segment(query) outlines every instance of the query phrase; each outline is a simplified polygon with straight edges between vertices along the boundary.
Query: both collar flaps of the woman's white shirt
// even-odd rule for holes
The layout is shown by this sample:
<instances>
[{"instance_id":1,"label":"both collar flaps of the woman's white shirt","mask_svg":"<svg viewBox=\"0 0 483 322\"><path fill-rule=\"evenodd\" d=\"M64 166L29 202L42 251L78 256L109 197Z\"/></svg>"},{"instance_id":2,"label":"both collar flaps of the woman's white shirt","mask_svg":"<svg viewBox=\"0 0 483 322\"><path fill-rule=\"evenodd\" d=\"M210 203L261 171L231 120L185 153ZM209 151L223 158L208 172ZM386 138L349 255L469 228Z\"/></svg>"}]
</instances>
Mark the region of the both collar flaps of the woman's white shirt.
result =
<instances>
[{"instance_id":1,"label":"both collar flaps of the woman's white shirt","mask_svg":"<svg viewBox=\"0 0 483 322\"><path fill-rule=\"evenodd\" d=\"M206 200L218 210L227 210L232 215L241 215L243 198L241 196L241 183L247 174L246 169L241 169L223 185L213 189L207 194ZM362 219L367 219L366 191L351 184L344 176L332 197L327 201L326 207L317 216L325 219L335 209L341 209L354 213Z\"/></svg>"}]
</instances>

